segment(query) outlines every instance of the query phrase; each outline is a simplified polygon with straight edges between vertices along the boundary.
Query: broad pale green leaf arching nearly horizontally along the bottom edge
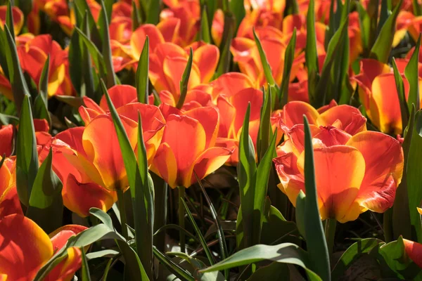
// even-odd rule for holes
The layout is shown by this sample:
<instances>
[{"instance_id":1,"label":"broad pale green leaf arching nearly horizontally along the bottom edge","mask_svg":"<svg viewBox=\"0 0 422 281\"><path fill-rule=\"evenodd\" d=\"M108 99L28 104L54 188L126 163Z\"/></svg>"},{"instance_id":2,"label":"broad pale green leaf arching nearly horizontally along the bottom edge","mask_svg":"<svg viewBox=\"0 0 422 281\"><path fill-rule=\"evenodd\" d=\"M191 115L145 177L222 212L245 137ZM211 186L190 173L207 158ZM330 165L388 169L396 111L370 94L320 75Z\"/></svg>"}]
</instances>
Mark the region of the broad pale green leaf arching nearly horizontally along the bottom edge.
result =
<instances>
[{"instance_id":1,"label":"broad pale green leaf arching nearly horizontally along the bottom edge","mask_svg":"<svg viewBox=\"0 0 422 281\"><path fill-rule=\"evenodd\" d=\"M215 270L245 266L258 261L276 261L277 263L294 264L304 268L310 280L322 280L312 270L307 267L308 257L305 251L295 244L283 243L274 246L257 244L255 246L243 249L229 256L229 258L216 263L214 266L200 270L207 273Z\"/></svg>"}]
</instances>

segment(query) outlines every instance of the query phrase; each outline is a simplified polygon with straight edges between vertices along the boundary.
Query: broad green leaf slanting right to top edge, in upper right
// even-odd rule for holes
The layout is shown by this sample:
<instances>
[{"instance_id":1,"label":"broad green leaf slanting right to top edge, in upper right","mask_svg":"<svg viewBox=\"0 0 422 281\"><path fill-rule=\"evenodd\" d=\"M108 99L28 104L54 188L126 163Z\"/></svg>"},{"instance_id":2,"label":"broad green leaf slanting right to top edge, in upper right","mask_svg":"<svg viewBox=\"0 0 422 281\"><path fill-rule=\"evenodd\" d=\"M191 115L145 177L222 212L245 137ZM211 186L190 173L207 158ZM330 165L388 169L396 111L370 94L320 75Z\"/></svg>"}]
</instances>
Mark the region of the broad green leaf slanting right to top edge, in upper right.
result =
<instances>
[{"instance_id":1,"label":"broad green leaf slanting right to top edge, in upper right","mask_svg":"<svg viewBox=\"0 0 422 281\"><path fill-rule=\"evenodd\" d=\"M385 21L385 24L381 28L378 37L371 48L370 58L379 60L381 63L388 63L388 57L390 56L392 40L395 34L395 25L397 15L399 15L400 7L402 6L403 0L399 1L399 4L395 7L392 14Z\"/></svg>"}]
</instances>

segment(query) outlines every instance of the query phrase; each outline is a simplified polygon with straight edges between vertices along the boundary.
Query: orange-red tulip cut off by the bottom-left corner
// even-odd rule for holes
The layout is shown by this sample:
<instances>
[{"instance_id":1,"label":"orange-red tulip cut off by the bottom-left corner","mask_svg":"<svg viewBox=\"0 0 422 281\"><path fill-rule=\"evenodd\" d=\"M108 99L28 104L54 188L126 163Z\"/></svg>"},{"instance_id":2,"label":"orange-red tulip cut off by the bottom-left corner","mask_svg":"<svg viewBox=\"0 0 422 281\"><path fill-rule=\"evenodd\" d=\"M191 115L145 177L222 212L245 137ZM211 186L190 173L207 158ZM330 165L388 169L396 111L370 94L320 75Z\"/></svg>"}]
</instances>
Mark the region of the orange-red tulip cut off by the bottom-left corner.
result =
<instances>
[{"instance_id":1,"label":"orange-red tulip cut off by the bottom-left corner","mask_svg":"<svg viewBox=\"0 0 422 281\"><path fill-rule=\"evenodd\" d=\"M49 237L37 223L20 214L0 218L0 279L33 280L37 271L70 236L85 229L84 226L63 226ZM81 266L81 254L77 247L68 249L68 255L45 280L71 280Z\"/></svg>"}]
</instances>

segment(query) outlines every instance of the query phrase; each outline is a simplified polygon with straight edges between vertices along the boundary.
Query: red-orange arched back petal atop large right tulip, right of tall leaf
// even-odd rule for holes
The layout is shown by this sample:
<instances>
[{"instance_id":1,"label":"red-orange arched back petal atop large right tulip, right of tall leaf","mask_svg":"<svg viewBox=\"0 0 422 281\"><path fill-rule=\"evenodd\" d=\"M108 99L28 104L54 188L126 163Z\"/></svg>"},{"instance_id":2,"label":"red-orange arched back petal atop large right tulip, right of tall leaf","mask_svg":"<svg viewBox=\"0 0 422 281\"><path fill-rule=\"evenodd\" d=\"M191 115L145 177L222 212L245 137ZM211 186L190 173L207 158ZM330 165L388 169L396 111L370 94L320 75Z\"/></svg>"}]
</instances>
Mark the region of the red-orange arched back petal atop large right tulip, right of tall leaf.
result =
<instances>
[{"instance_id":1,"label":"red-orange arched back petal atop large right tulip, right of tall leaf","mask_svg":"<svg viewBox=\"0 0 422 281\"><path fill-rule=\"evenodd\" d=\"M366 131L366 118L356 108L350 105L337 105L329 108L316 120L321 126L334 126L339 121L341 129L351 135Z\"/></svg>"}]
</instances>

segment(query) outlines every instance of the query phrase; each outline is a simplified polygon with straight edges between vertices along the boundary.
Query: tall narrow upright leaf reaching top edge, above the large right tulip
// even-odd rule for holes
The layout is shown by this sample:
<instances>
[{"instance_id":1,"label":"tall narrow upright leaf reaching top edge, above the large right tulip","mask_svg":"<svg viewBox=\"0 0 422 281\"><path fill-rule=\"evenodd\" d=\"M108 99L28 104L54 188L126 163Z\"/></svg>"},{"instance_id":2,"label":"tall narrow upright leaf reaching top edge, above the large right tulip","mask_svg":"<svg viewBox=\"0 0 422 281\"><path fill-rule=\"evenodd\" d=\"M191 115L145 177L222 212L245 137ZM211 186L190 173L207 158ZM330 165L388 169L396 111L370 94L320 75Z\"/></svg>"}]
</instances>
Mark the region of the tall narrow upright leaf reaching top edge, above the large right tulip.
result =
<instances>
[{"instance_id":1,"label":"tall narrow upright leaf reaching top edge, above the large right tulip","mask_svg":"<svg viewBox=\"0 0 422 281\"><path fill-rule=\"evenodd\" d=\"M318 53L316 52L316 31L315 31L315 0L309 0L306 18L306 47L305 65L308 71L308 94L311 103L316 100L315 90L319 80Z\"/></svg>"}]
</instances>

